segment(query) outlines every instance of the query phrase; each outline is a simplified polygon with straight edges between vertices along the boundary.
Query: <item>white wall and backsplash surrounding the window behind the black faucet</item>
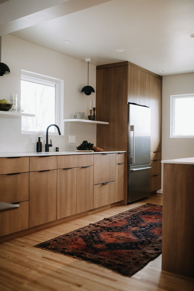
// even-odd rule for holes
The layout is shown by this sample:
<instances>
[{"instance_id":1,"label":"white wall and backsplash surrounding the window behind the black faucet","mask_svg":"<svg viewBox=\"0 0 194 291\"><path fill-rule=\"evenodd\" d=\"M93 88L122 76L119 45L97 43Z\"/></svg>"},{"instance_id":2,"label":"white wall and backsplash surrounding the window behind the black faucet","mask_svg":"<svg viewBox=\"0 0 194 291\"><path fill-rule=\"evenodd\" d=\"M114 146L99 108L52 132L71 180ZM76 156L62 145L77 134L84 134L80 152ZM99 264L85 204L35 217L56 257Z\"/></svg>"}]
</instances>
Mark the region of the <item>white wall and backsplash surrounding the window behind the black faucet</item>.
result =
<instances>
[{"instance_id":1,"label":"white wall and backsplash surrounding the window behind the black faucet","mask_svg":"<svg viewBox=\"0 0 194 291\"><path fill-rule=\"evenodd\" d=\"M64 48L65 49L65 48ZM90 57L90 56L86 56ZM90 99L81 93L88 83L88 64L50 49L11 35L2 36L1 61L10 68L10 74L0 77L0 99L17 93L20 100L21 69L64 80L64 119L74 118L79 112L90 115ZM96 88L96 67L89 64L89 85ZM93 103L92 103L93 104ZM48 124L49 125L49 124ZM60 129L63 131L63 129ZM40 134L21 134L21 119L0 117L0 152L35 152ZM76 143L69 143L69 135L76 136ZM42 150L46 135L42 135ZM53 147L49 151L76 150L83 140L96 145L96 125L64 123L64 136L51 136Z\"/></svg>"}]
</instances>

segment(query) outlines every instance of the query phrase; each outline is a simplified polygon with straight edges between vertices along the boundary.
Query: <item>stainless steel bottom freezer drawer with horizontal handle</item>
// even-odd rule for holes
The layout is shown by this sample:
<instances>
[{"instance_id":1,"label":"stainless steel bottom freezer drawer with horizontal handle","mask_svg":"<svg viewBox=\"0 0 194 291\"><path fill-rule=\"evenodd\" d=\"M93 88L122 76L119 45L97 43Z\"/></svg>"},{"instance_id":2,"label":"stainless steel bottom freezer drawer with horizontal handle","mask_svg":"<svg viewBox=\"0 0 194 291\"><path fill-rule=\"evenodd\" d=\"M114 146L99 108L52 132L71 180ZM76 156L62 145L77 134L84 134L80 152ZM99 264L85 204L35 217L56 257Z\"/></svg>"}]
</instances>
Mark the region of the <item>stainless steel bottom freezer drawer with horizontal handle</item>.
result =
<instances>
[{"instance_id":1,"label":"stainless steel bottom freezer drawer with horizontal handle","mask_svg":"<svg viewBox=\"0 0 194 291\"><path fill-rule=\"evenodd\" d=\"M127 167L127 202L150 196L150 164Z\"/></svg>"}]
</instances>

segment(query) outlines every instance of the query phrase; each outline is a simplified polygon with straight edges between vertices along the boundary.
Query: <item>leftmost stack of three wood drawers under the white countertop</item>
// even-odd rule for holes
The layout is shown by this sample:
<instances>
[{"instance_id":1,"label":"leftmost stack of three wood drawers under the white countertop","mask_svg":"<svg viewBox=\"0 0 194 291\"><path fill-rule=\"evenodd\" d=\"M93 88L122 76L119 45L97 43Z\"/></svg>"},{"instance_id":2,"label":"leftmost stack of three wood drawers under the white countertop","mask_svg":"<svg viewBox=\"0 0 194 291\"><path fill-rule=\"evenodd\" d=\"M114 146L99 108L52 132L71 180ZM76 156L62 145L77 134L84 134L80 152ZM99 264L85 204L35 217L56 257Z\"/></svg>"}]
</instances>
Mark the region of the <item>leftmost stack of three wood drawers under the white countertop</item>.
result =
<instances>
[{"instance_id":1,"label":"leftmost stack of three wood drawers under the white countertop","mask_svg":"<svg viewBox=\"0 0 194 291\"><path fill-rule=\"evenodd\" d=\"M0 173L0 200L19 204L0 213L3 236L29 227L29 157L0 158Z\"/></svg>"}]
</instances>

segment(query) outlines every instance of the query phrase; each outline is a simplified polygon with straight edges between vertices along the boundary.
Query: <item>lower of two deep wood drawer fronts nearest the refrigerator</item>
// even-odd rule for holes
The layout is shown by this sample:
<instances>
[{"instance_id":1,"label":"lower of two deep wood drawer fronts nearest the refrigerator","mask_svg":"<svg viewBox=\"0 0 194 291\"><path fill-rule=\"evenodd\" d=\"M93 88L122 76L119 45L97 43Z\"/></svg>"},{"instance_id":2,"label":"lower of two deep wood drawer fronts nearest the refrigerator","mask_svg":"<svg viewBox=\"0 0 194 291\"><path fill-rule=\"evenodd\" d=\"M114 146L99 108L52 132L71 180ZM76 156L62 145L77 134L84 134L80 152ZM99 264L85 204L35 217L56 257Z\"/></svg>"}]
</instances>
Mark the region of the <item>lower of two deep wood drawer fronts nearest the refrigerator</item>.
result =
<instances>
[{"instance_id":1,"label":"lower of two deep wood drawer fronts nearest the refrigerator","mask_svg":"<svg viewBox=\"0 0 194 291\"><path fill-rule=\"evenodd\" d=\"M94 185L94 208L114 203L116 182Z\"/></svg>"}]
</instances>

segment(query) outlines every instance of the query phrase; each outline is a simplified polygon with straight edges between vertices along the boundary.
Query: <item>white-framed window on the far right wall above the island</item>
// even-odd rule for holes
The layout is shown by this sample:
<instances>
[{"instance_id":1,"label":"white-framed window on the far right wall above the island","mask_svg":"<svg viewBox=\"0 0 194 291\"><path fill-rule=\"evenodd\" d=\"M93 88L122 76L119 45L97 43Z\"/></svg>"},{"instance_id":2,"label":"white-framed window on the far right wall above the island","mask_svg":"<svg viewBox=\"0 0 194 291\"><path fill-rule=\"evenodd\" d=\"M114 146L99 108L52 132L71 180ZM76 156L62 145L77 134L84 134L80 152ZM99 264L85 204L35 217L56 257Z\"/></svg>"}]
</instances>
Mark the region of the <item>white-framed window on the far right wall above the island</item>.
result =
<instances>
[{"instance_id":1,"label":"white-framed window on the far right wall above the island","mask_svg":"<svg viewBox=\"0 0 194 291\"><path fill-rule=\"evenodd\" d=\"M194 94L171 95L170 137L194 137Z\"/></svg>"}]
</instances>

